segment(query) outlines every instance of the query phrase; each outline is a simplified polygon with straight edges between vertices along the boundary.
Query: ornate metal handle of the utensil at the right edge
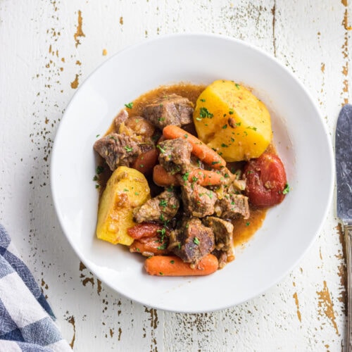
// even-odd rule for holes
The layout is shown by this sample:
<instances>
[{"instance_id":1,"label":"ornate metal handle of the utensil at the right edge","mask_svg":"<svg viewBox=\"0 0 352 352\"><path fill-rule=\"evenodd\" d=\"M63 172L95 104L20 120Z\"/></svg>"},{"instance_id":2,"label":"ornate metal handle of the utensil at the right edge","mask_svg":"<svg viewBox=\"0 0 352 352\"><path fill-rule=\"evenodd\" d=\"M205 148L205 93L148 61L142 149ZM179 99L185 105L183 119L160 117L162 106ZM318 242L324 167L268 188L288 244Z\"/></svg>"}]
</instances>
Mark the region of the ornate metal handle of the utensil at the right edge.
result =
<instances>
[{"instance_id":1,"label":"ornate metal handle of the utensil at the right edge","mask_svg":"<svg viewBox=\"0 0 352 352\"><path fill-rule=\"evenodd\" d=\"M352 351L352 223L342 225L346 244L347 267L347 334L346 351Z\"/></svg>"}]
</instances>

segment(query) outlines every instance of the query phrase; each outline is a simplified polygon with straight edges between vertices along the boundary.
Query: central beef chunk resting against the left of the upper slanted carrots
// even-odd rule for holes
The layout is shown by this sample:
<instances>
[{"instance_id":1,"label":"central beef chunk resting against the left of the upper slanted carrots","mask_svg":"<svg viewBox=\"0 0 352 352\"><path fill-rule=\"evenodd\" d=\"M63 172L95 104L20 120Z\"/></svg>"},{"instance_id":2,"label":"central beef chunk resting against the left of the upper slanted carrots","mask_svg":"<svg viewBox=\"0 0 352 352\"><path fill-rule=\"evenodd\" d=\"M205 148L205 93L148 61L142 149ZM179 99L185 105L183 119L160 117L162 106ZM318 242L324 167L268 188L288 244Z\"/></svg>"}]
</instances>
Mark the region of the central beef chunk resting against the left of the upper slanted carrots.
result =
<instances>
[{"instance_id":1,"label":"central beef chunk resting against the left of the upper slanted carrots","mask_svg":"<svg viewBox=\"0 0 352 352\"><path fill-rule=\"evenodd\" d=\"M159 163L166 171L175 174L189 170L192 146L186 139L166 139L158 144L158 149Z\"/></svg>"}]
</instances>

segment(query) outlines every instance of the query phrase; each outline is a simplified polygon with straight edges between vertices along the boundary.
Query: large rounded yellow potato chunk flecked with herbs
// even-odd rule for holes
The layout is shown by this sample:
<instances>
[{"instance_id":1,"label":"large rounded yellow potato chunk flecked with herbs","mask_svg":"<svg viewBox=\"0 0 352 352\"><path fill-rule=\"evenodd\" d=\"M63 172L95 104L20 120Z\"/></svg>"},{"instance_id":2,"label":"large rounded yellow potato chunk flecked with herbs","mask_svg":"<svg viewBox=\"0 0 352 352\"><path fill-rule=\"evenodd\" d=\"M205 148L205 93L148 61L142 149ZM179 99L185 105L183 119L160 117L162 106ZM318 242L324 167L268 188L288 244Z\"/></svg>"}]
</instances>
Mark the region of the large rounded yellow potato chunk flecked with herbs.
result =
<instances>
[{"instance_id":1,"label":"large rounded yellow potato chunk flecked with herbs","mask_svg":"<svg viewBox=\"0 0 352 352\"><path fill-rule=\"evenodd\" d=\"M217 80L200 94L194 110L199 139L225 161L258 158L272 139L270 113L248 89Z\"/></svg>"}]
</instances>

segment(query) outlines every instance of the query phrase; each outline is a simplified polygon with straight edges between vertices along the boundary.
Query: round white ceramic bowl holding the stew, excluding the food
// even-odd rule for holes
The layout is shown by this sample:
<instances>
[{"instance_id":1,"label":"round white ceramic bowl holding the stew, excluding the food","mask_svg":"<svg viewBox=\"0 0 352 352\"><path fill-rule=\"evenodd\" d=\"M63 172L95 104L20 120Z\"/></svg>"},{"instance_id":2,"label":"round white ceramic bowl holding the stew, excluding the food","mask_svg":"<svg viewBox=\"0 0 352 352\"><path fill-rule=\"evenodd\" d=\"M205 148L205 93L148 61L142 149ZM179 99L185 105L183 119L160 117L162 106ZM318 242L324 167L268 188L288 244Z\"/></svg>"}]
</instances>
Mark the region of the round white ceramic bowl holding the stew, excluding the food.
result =
<instances>
[{"instance_id":1,"label":"round white ceramic bowl holding the stew, excluding the food","mask_svg":"<svg viewBox=\"0 0 352 352\"><path fill-rule=\"evenodd\" d=\"M151 277L144 258L95 237L98 194L93 144L125 103L162 84L234 80L253 88L272 113L275 145L291 192L268 211L237 258L208 277ZM332 198L332 147L306 89L263 51L239 40L177 34L142 42L90 75L61 120L51 190L63 232L80 260L123 296L176 312L205 312L257 296L294 268L312 244Z\"/></svg>"}]
</instances>

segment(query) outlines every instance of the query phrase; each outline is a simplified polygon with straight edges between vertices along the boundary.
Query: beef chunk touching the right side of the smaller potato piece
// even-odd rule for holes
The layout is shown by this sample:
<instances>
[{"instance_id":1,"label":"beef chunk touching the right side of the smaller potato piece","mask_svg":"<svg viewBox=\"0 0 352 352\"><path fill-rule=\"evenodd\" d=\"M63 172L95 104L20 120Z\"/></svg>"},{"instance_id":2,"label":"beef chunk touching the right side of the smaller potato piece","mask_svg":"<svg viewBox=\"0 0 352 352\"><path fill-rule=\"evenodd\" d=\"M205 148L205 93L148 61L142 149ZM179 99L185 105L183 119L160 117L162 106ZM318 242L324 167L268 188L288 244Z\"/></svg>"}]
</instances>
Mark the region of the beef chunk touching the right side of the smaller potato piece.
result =
<instances>
[{"instance_id":1,"label":"beef chunk touching the right side of the smaller potato piece","mask_svg":"<svg viewBox=\"0 0 352 352\"><path fill-rule=\"evenodd\" d=\"M173 190L163 191L158 196L149 199L142 206L135 208L133 218L135 222L158 221L165 222L172 219L180 208L180 200Z\"/></svg>"}]
</instances>

